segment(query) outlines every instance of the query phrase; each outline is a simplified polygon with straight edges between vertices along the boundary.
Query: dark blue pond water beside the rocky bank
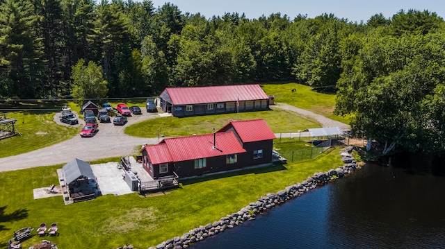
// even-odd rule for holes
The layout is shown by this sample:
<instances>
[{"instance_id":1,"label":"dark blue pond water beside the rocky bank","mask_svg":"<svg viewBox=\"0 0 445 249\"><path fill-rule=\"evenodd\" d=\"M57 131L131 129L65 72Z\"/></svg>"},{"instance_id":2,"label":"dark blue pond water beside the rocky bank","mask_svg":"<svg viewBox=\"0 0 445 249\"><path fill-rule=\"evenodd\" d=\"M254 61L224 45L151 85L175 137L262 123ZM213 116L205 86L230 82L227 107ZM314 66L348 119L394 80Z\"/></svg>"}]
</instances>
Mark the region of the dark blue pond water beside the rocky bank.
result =
<instances>
[{"instance_id":1,"label":"dark blue pond water beside the rocky bank","mask_svg":"<svg viewBox=\"0 0 445 249\"><path fill-rule=\"evenodd\" d=\"M445 248L445 178L366 164L190 248Z\"/></svg>"}]
</instances>

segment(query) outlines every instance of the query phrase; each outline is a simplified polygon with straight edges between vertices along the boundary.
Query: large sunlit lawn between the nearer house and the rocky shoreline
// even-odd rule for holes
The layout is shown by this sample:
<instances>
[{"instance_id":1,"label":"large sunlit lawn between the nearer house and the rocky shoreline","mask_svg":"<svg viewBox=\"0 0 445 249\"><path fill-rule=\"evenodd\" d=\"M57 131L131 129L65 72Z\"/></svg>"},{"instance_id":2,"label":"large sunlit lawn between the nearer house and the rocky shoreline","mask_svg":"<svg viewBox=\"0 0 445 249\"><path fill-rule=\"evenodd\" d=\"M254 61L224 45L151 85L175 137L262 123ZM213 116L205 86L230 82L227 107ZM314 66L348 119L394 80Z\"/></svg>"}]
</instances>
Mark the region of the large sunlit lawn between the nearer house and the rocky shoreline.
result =
<instances>
[{"instance_id":1,"label":"large sunlit lawn between the nearer house and the rocky shoreline","mask_svg":"<svg viewBox=\"0 0 445 249\"><path fill-rule=\"evenodd\" d=\"M56 169L62 165L3 172L0 248L6 248L13 230L27 226L37 229L42 222L58 223L60 235L46 239L57 243L59 248L118 248L130 243L148 248L217 221L267 193L302 182L314 172L328 171L341 164L336 148L298 164L189 180L182 182L181 189L165 193L145 197L107 195L72 205L64 205L61 196L33 199L33 189L58 182ZM22 246L28 248L41 240L32 237Z\"/></svg>"}]
</instances>

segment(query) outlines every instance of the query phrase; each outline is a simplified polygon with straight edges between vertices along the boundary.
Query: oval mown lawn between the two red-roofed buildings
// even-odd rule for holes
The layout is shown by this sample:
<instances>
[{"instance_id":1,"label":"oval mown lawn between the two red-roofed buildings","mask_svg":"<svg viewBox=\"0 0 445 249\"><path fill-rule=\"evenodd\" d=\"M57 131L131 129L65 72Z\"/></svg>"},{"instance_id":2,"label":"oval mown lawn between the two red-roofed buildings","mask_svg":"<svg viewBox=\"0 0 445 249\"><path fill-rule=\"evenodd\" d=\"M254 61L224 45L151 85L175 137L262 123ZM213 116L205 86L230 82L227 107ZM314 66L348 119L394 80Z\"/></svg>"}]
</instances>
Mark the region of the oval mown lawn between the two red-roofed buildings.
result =
<instances>
[{"instance_id":1,"label":"oval mown lawn between the two red-roofed buildings","mask_svg":"<svg viewBox=\"0 0 445 249\"><path fill-rule=\"evenodd\" d=\"M275 133L296 132L306 128L320 127L319 123L299 117L293 112L273 108L261 112L240 112L214 114L197 117L162 117L149 119L125 128L127 135L135 137L179 137L193 134L211 133L213 128L219 130L231 120L264 119Z\"/></svg>"}]
</instances>

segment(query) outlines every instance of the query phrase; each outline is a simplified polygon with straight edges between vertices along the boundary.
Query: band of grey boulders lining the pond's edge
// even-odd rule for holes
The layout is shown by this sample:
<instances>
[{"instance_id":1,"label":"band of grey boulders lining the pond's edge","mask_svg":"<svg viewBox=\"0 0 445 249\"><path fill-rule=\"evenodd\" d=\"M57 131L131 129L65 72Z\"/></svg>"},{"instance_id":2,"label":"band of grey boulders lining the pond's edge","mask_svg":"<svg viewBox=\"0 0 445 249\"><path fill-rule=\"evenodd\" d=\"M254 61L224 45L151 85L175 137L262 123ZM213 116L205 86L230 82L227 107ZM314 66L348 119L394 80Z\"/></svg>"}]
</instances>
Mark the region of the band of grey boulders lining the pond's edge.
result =
<instances>
[{"instance_id":1,"label":"band of grey boulders lining the pond's edge","mask_svg":"<svg viewBox=\"0 0 445 249\"><path fill-rule=\"evenodd\" d=\"M342 156L342 161L345 163L343 166L339 166L337 169L331 169L327 172L314 173L314 175L309 176L307 180L301 183L293 184L286 187L284 190L275 193L266 194L266 196L261 196L256 202L250 203L249 205L243 207L238 212L229 214L225 217L220 218L218 221L209 223L207 225L201 225L196 227L189 232L186 232L181 237L175 237L173 239L168 239L163 241L156 247L149 247L148 249L182 249L188 248L189 246L211 237L220 232L224 232L226 229L235 227L236 225L243 223L245 221L254 220L257 214L266 212L268 209L272 209L276 205L280 205L287 200L291 200L305 194L311 189L315 189L319 184L325 184L330 180L335 180L341 178L344 175L350 174L355 169L358 168L357 162L355 162L353 156L350 154L353 151L353 147L349 146L344 148L340 153ZM123 248L133 248L132 246L124 246ZM123 249L118 248L118 249Z\"/></svg>"}]
</instances>

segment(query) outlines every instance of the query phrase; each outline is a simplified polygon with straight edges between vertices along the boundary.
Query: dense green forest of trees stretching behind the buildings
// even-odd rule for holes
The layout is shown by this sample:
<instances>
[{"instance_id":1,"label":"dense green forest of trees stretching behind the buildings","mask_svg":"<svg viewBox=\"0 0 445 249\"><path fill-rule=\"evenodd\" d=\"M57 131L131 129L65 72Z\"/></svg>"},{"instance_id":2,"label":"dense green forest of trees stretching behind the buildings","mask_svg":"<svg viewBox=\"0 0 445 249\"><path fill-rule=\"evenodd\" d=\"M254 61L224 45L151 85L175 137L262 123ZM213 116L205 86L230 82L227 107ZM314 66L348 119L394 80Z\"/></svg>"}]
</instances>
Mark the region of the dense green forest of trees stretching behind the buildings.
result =
<instances>
[{"instance_id":1,"label":"dense green forest of trees stretching behind the buildings","mask_svg":"<svg viewBox=\"0 0 445 249\"><path fill-rule=\"evenodd\" d=\"M445 24L435 12L352 23L332 14L208 18L152 1L0 1L3 99L293 80L334 86L335 112L354 114L355 132L387 150L445 149Z\"/></svg>"}]
</instances>

